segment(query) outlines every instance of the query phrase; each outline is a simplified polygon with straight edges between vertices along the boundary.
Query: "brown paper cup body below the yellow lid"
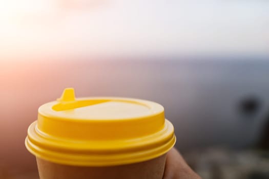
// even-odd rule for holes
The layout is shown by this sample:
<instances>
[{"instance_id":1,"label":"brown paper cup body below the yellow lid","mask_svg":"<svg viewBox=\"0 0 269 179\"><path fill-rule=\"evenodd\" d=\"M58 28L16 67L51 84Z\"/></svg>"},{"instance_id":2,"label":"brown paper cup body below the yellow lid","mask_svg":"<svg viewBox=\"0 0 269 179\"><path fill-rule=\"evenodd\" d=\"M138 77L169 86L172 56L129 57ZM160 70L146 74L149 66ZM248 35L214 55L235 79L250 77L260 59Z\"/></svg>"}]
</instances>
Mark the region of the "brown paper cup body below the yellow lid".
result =
<instances>
[{"instance_id":1,"label":"brown paper cup body below the yellow lid","mask_svg":"<svg viewBox=\"0 0 269 179\"><path fill-rule=\"evenodd\" d=\"M37 158L40 179L162 179L166 155L158 158L127 165L106 167L81 167L55 164Z\"/></svg>"}]
</instances>

